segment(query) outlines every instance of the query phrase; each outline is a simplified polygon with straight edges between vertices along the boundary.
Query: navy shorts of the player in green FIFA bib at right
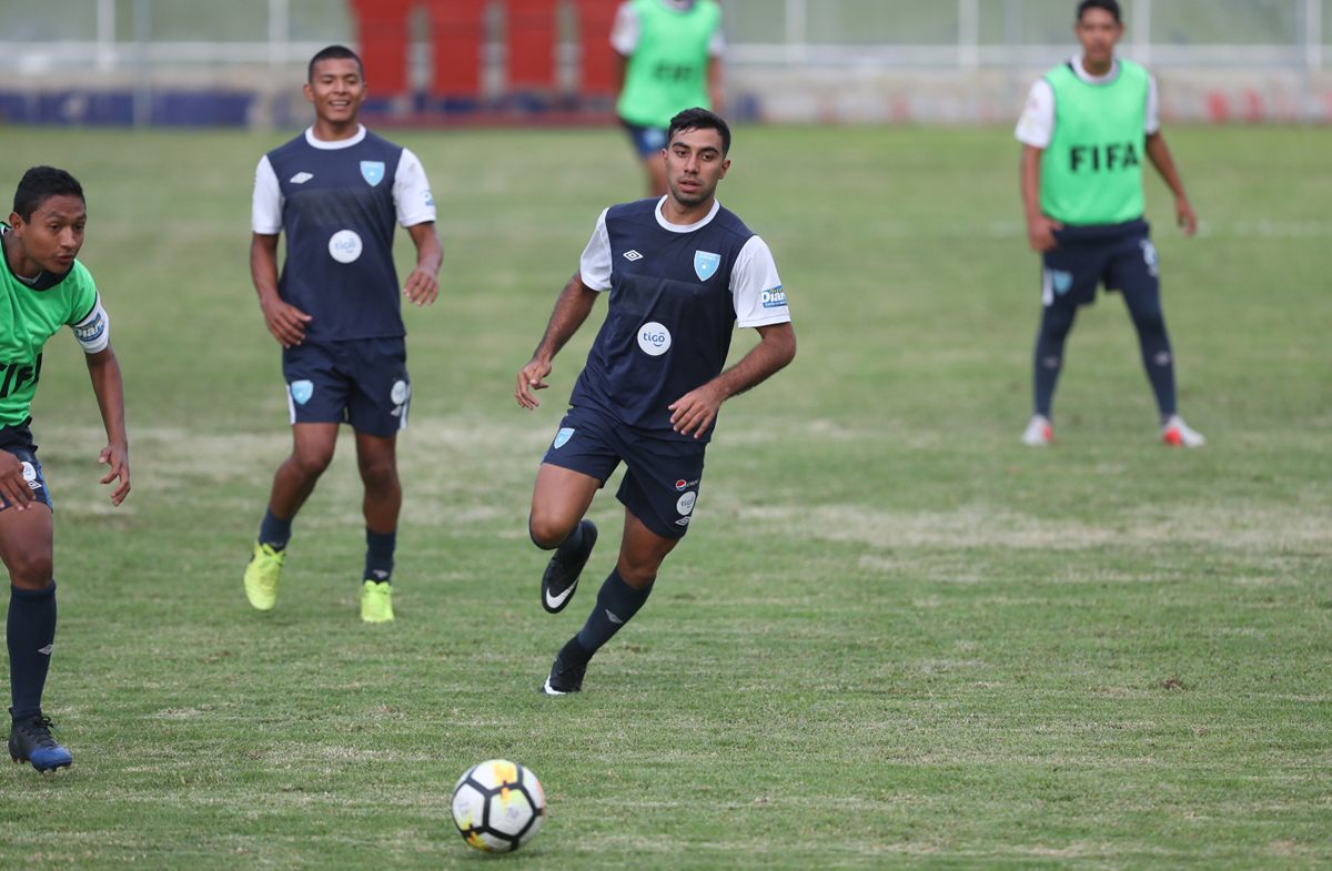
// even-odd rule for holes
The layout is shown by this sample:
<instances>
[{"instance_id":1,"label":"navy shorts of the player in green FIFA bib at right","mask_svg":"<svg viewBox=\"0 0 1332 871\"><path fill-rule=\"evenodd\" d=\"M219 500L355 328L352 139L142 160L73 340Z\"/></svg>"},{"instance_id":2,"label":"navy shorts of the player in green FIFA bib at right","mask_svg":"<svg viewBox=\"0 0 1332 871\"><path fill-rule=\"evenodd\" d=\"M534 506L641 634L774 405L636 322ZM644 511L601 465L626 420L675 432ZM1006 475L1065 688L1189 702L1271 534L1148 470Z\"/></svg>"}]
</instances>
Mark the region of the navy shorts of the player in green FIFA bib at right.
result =
<instances>
[{"instance_id":1,"label":"navy shorts of the player in green FIFA bib at right","mask_svg":"<svg viewBox=\"0 0 1332 871\"><path fill-rule=\"evenodd\" d=\"M1055 230L1059 246L1042 258L1040 301L1046 308L1088 305L1102 284L1122 292L1130 308L1159 301L1160 269L1150 233L1143 220Z\"/></svg>"}]
</instances>

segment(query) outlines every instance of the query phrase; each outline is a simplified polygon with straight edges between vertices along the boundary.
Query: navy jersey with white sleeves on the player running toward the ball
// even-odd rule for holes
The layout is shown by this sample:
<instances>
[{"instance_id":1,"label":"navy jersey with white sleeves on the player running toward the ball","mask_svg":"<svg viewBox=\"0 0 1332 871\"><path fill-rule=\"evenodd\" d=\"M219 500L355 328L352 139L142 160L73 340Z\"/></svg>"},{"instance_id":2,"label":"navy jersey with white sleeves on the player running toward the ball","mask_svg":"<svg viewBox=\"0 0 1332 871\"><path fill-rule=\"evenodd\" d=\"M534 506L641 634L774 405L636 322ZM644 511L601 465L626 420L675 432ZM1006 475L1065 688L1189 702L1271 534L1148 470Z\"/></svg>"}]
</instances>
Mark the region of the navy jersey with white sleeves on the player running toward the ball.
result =
<instances>
[{"instance_id":1,"label":"navy jersey with white sleeves on the player running toward the ball","mask_svg":"<svg viewBox=\"0 0 1332 871\"><path fill-rule=\"evenodd\" d=\"M670 405L722 372L737 301L753 297L758 312L745 325L790 316L767 246L738 217L715 206L699 224L671 226L659 217L659 202L607 209L605 234L598 225L583 254L585 284L609 289L610 302L569 404L607 412L646 436L695 441L671 429ZM595 270L589 257L601 264ZM697 441L707 441L713 430L715 424Z\"/></svg>"}]
</instances>

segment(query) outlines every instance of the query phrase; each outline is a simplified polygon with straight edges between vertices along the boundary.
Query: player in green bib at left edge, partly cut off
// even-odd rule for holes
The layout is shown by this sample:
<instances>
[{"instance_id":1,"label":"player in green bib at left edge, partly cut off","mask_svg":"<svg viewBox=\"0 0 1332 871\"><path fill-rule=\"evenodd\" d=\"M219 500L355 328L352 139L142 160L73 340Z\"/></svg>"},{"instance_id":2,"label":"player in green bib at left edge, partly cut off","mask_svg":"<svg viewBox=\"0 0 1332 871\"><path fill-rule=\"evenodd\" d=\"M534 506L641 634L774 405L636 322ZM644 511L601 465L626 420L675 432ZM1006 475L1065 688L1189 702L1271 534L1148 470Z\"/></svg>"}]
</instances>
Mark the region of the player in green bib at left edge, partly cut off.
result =
<instances>
[{"instance_id":1,"label":"player in green bib at left edge, partly cut off","mask_svg":"<svg viewBox=\"0 0 1332 871\"><path fill-rule=\"evenodd\" d=\"M51 495L37 462L28 413L41 376L47 340L69 326L83 346L107 429L97 462L103 483L120 483L111 503L129 494L129 443L120 364L111 325L92 276L75 257L88 209L73 176L52 166L29 169L19 182L9 224L0 224L0 558L9 570L9 756L37 771L68 767L69 751L51 735L41 691L56 641Z\"/></svg>"}]
</instances>

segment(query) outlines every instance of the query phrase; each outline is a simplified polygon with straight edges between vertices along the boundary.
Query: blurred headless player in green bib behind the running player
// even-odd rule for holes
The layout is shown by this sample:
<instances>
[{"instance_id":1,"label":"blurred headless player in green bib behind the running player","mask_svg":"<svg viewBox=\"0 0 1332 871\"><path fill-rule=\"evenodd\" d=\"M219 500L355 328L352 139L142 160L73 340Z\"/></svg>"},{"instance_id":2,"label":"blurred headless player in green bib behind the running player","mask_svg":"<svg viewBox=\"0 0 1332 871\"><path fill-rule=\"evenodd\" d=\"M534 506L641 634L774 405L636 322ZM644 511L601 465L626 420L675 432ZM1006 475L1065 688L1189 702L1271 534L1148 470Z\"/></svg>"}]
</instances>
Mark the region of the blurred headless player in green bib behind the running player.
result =
<instances>
[{"instance_id":1,"label":"blurred headless player in green bib behind the running player","mask_svg":"<svg viewBox=\"0 0 1332 871\"><path fill-rule=\"evenodd\" d=\"M721 112L722 8L714 0L626 0L610 44L618 56L615 113L647 170L647 193L666 196L661 153L677 112Z\"/></svg>"}]
</instances>

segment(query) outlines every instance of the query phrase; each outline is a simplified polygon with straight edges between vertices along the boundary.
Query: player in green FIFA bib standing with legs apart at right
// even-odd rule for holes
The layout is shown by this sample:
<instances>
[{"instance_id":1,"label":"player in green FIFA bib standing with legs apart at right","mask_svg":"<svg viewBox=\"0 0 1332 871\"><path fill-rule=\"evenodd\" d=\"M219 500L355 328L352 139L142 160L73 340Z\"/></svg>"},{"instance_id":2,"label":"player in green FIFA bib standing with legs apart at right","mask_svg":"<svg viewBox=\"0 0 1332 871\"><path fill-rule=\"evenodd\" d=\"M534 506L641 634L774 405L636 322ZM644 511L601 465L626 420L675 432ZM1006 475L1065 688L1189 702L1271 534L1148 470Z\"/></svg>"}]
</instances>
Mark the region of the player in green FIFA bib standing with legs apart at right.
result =
<instances>
[{"instance_id":1,"label":"player in green FIFA bib standing with legs apart at right","mask_svg":"<svg viewBox=\"0 0 1332 871\"><path fill-rule=\"evenodd\" d=\"M1031 87L1016 129L1024 144L1027 236L1044 265L1035 413L1022 441L1050 443L1050 406L1064 341L1078 306L1094 302L1096 286L1104 284L1123 294L1138 328L1143 365L1160 412L1162 439L1197 447L1205 439L1175 409L1175 358L1162 313L1156 248L1143 220L1144 154L1175 193L1175 213L1185 236L1196 230L1197 217L1160 132L1155 79L1143 67L1115 57L1115 43L1124 35L1119 4L1084 0L1074 33L1082 56Z\"/></svg>"}]
</instances>

